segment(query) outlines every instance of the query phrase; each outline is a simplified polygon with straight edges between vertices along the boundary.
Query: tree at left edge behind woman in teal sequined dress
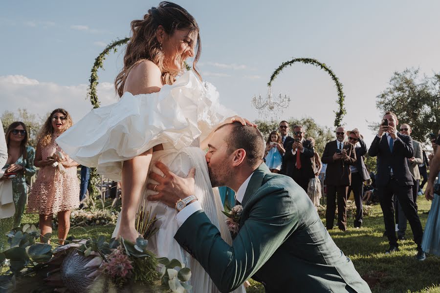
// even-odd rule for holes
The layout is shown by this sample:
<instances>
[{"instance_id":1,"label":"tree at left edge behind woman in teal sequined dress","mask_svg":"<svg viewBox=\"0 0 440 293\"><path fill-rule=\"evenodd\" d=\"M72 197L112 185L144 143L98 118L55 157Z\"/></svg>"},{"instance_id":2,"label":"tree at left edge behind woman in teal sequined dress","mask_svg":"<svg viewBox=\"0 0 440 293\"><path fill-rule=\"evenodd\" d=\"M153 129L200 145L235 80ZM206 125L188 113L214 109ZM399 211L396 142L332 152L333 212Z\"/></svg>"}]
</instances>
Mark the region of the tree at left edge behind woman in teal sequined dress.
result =
<instances>
[{"instance_id":1,"label":"tree at left edge behind woman in teal sequined dress","mask_svg":"<svg viewBox=\"0 0 440 293\"><path fill-rule=\"evenodd\" d=\"M6 110L1 114L1 122L5 132L9 125L15 121L21 121L26 125L29 134L29 145L36 147L37 134L43 124L41 122L42 119L37 118L35 114L29 113L27 109L24 108L19 108L16 113Z\"/></svg>"}]
</instances>

